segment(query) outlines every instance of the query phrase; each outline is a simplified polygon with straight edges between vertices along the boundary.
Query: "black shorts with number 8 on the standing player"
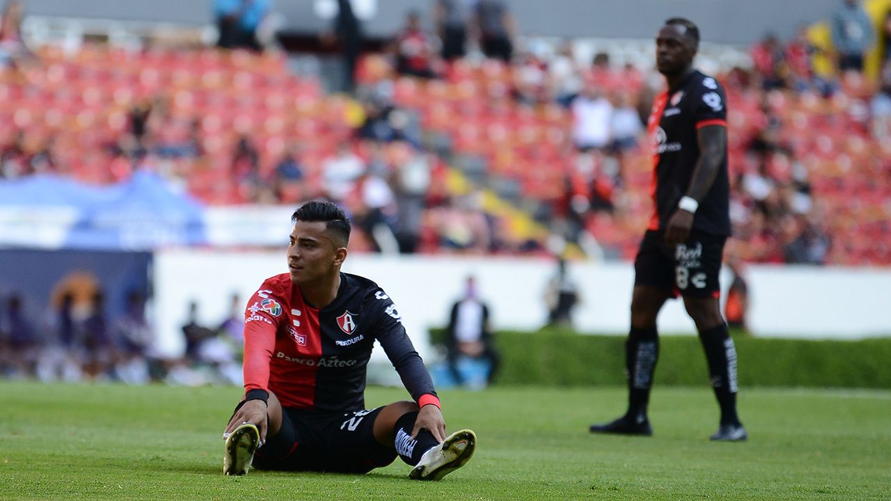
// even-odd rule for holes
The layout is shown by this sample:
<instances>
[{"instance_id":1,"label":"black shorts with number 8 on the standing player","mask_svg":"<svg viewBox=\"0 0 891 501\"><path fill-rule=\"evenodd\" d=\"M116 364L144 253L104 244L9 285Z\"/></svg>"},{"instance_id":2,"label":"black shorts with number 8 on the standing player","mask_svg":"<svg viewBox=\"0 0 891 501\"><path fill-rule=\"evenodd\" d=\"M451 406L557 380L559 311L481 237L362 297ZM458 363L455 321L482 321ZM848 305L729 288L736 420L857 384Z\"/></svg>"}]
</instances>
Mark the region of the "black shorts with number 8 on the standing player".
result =
<instances>
[{"instance_id":1,"label":"black shorts with number 8 on the standing player","mask_svg":"<svg viewBox=\"0 0 891 501\"><path fill-rule=\"evenodd\" d=\"M634 259L634 286L655 287L674 298L719 298L724 242L725 236L694 231L671 249L664 233L648 230Z\"/></svg>"}]
</instances>

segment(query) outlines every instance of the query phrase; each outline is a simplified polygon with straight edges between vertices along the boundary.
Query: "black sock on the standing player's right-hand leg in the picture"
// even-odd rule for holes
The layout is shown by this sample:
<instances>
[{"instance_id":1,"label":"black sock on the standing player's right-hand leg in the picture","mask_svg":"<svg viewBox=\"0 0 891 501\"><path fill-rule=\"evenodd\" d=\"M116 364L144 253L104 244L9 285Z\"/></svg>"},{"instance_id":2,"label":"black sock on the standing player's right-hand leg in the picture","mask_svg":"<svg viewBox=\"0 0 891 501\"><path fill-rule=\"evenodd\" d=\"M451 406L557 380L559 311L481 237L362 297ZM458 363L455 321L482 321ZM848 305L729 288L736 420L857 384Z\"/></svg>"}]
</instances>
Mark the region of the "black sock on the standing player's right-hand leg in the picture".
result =
<instances>
[{"instance_id":1,"label":"black sock on the standing player's right-hand leg in the picture","mask_svg":"<svg viewBox=\"0 0 891 501\"><path fill-rule=\"evenodd\" d=\"M699 333L699 341L706 350L712 388L721 406L721 424L740 424L740 418L736 415L736 346L733 345L727 324L722 322Z\"/></svg>"}]
</instances>

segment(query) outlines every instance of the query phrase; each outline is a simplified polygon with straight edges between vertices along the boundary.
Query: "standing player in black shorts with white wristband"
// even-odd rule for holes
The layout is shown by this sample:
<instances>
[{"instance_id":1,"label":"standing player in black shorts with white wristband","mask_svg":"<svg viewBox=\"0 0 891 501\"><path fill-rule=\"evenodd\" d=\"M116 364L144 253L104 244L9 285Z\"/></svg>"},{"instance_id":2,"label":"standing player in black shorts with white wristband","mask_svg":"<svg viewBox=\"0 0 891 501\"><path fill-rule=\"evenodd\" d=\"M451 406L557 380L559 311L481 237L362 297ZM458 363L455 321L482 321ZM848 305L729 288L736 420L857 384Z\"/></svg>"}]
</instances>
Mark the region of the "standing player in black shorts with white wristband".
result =
<instances>
[{"instance_id":1,"label":"standing player in black shorts with white wristband","mask_svg":"<svg viewBox=\"0 0 891 501\"><path fill-rule=\"evenodd\" d=\"M747 439L736 414L736 348L721 316L718 272L731 233L727 175L727 108L715 78L695 70L699 29L666 21L656 38L656 66L668 90L650 115L654 213L634 261L631 333L625 343L628 412L593 424L595 433L651 435L647 418L658 359L656 316L669 298L683 297L706 351L721 423L713 440Z\"/></svg>"}]
</instances>

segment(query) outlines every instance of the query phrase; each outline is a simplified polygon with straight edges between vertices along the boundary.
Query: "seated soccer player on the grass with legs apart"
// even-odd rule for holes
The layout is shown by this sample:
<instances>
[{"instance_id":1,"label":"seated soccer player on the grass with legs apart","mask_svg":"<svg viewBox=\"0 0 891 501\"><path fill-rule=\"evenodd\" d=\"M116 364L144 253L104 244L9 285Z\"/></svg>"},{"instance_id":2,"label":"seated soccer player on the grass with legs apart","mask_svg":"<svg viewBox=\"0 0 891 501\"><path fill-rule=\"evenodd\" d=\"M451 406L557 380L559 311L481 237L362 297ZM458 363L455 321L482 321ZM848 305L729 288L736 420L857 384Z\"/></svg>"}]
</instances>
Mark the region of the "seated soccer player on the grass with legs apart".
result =
<instances>
[{"instance_id":1,"label":"seated soccer player on the grass with legs apart","mask_svg":"<svg viewBox=\"0 0 891 501\"><path fill-rule=\"evenodd\" d=\"M223 472L257 469L364 473L400 456L409 477L439 480L470 460L473 431L446 437L429 373L393 301L376 283L340 272L350 224L330 202L300 207L288 274L248 302L245 395L226 426ZM364 408L374 341L414 399Z\"/></svg>"}]
</instances>

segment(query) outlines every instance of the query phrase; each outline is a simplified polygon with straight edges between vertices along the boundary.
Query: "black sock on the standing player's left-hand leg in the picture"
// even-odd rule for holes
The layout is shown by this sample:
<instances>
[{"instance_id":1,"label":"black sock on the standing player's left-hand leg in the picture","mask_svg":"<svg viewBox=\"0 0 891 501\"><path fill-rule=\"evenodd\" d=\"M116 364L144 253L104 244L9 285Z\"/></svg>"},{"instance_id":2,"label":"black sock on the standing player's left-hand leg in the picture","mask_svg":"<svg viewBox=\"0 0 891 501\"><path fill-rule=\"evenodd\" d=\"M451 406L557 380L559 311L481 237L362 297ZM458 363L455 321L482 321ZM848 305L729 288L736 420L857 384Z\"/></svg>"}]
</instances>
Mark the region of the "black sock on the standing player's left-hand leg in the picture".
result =
<instances>
[{"instance_id":1,"label":"black sock on the standing player's left-hand leg in the picture","mask_svg":"<svg viewBox=\"0 0 891 501\"><path fill-rule=\"evenodd\" d=\"M628 377L627 417L639 419L647 415L653 371L659 357L659 337L656 327L631 328L625 341L625 369Z\"/></svg>"}]
</instances>

